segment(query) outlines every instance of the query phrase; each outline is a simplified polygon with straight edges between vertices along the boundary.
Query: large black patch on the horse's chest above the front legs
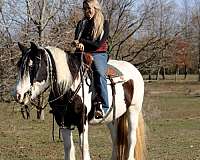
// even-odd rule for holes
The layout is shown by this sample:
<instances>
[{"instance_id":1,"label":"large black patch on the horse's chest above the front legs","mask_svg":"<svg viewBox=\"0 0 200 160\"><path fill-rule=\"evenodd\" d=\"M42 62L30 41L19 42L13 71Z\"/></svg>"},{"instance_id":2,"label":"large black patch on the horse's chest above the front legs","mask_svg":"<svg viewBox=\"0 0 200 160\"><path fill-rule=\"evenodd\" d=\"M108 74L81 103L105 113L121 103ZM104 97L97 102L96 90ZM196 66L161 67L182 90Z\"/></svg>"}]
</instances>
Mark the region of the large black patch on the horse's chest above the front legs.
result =
<instances>
[{"instance_id":1,"label":"large black patch on the horse's chest above the front legs","mask_svg":"<svg viewBox=\"0 0 200 160\"><path fill-rule=\"evenodd\" d=\"M53 114L55 116L56 123L60 127L67 127L71 129L73 126L76 126L79 130L79 133L83 132L83 119L84 124L86 123L86 106L83 107L81 97L75 95L73 101L69 103L69 100L74 95L72 90L69 90L62 98L56 99L53 92L49 95L50 107L52 108ZM84 109L84 110L83 110ZM83 111L85 113L83 118ZM64 124L63 124L64 122Z\"/></svg>"}]
</instances>

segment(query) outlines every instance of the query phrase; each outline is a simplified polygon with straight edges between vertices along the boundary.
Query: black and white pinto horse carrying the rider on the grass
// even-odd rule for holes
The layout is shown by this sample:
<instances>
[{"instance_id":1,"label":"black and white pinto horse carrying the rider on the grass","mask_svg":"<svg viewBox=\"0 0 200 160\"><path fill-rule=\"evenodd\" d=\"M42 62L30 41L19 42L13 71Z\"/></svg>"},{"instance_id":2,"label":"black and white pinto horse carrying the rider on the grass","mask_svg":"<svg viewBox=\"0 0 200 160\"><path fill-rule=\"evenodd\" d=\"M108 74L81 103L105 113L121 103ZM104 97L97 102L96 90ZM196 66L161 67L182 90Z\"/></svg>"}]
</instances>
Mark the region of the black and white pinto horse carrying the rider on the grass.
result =
<instances>
[{"instance_id":1,"label":"black and white pinto horse carrying the rider on the grass","mask_svg":"<svg viewBox=\"0 0 200 160\"><path fill-rule=\"evenodd\" d=\"M95 119L92 106L91 72L84 72L83 54L31 42L30 47L18 43L22 56L18 62L15 98L28 104L50 88L49 105L60 126L64 142L64 159L75 160L72 129L78 128L82 159L91 160L88 144L89 124L104 123L112 139L112 160L145 159L142 104L144 81L140 72L126 61L109 60L121 75L107 80L109 111L103 119ZM92 57L89 56L92 60ZM91 62L90 62L91 63ZM89 64L89 63L86 63ZM90 68L86 65L85 68ZM82 76L81 76L82 75ZM114 84L115 94L113 96ZM113 103L115 104L113 107ZM92 125L91 125L92 126Z\"/></svg>"}]
</instances>

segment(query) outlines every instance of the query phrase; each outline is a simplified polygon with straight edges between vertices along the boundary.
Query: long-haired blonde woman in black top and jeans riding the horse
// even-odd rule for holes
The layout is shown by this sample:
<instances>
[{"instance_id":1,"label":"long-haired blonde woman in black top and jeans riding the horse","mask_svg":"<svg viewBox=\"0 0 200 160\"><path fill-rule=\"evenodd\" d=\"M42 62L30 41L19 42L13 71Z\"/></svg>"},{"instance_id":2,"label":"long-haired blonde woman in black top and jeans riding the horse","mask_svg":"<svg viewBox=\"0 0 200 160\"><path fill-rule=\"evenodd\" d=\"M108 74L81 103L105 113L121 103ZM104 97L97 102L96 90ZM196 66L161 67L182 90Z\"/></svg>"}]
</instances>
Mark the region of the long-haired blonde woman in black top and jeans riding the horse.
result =
<instances>
[{"instance_id":1,"label":"long-haired blonde woman in black top and jeans riding the horse","mask_svg":"<svg viewBox=\"0 0 200 160\"><path fill-rule=\"evenodd\" d=\"M79 50L92 53L94 82L103 108L103 111L96 110L95 117L102 118L109 108L105 75L108 59L109 24L107 20L104 20L101 6L97 0L84 0L83 13L84 17L79 21L75 30L73 44Z\"/></svg>"}]
</instances>

